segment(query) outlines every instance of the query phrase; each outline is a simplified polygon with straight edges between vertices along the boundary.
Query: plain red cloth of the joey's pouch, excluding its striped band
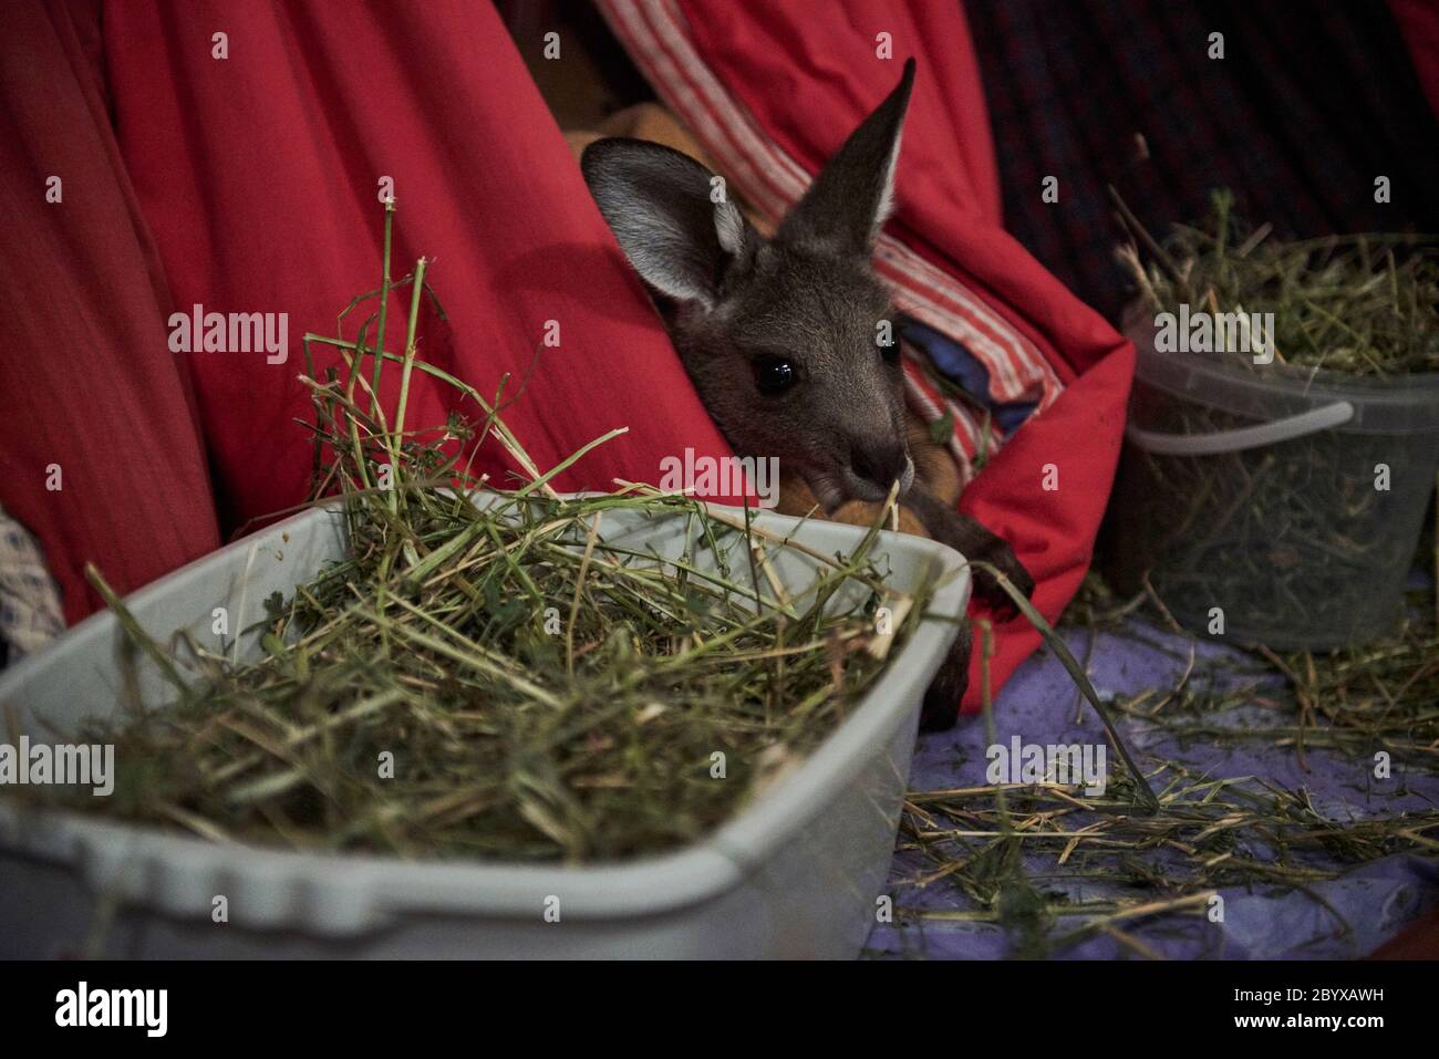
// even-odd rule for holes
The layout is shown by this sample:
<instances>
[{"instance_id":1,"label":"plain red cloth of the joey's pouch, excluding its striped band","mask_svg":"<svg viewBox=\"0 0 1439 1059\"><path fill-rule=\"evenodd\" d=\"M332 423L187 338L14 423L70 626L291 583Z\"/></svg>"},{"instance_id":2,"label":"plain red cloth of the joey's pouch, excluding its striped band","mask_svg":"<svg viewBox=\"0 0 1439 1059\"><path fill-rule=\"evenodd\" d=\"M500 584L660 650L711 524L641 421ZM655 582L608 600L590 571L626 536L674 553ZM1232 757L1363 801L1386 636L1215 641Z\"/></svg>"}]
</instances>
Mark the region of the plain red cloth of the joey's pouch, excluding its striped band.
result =
<instances>
[{"instance_id":1,"label":"plain red cloth of the joey's pouch, excluding its striped band","mask_svg":"<svg viewBox=\"0 0 1439 1059\"><path fill-rule=\"evenodd\" d=\"M1089 565L1118 460L1134 350L1000 227L989 117L961 4L659 3L652 22L663 7L678 7L704 63L810 173L894 88L904 59L918 60L898 209L886 232L980 294L1063 383L1053 404L1004 443L960 501L1014 545L1038 583L1036 606L1053 620ZM892 59L876 56L881 33L889 35ZM672 30L668 39L672 46ZM994 686L1038 645L1023 617L999 626ZM964 708L974 711L977 653L970 678Z\"/></svg>"}]
</instances>

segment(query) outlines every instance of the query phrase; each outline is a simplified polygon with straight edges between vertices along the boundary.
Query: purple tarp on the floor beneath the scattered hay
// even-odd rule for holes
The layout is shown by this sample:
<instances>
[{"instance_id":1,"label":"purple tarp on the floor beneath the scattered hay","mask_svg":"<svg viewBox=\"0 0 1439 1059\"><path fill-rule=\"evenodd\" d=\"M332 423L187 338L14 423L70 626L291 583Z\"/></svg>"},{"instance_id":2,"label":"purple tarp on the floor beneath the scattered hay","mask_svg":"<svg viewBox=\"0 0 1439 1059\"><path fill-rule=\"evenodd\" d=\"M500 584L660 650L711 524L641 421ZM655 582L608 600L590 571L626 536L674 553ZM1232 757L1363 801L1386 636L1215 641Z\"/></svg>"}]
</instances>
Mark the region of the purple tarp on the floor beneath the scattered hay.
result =
<instances>
[{"instance_id":1,"label":"purple tarp on the floor beneath the scattered hay","mask_svg":"<svg viewBox=\"0 0 1439 1059\"><path fill-rule=\"evenodd\" d=\"M1134 695L1145 688L1173 688L1183 675L1190 640L1134 624L1147 643L1127 635L1066 630L1065 639L1078 659L1089 655L1088 672L1101 698ZM1233 663L1240 655L1229 647L1196 645L1197 662L1190 681L1235 681ZM1246 678L1253 682L1253 676ZM1275 688L1282 688L1275 679ZM994 705L994 735L1000 744L1020 737L1026 744L1102 742L1104 731L1092 708L1084 706L1076 724L1078 692L1059 660L1042 650L1010 679ZM1226 714L1226 724L1255 722L1243 711ZM1210 718L1215 719L1215 718ZM1268 724L1274 724L1272 712ZM1370 758L1309 748L1308 771L1301 768L1292 747L1275 747L1262 740L1216 745L1145 727L1121 724L1121 734L1145 771L1161 760L1180 761L1206 771L1210 778L1256 777L1275 787L1304 790L1315 812L1327 819L1353 820L1364 816L1393 816L1433 809L1439 801L1439 777L1407 771L1394 761L1387 780L1374 777ZM948 732L921 737L909 786L912 790L979 786L986 783L984 722L961 719ZM1109 774L1121 765L1109 754ZM1177 853L1173 856L1179 856ZM1027 869L1052 863L1052 858L1026 858ZM1153 856L1163 869L1164 855ZM1324 863L1314 862L1309 863ZM1004 957L1012 942L993 924L922 918L905 909L968 909L973 905L954 885L943 879L921 889L905 885L922 860L898 853L888 892L894 896L895 922L876 925L869 938L869 955L979 960ZM1092 901L1121 892L1115 885L1082 881L1042 881L1043 889L1059 889L1071 901ZM1338 879L1314 882L1304 891L1282 892L1271 886L1236 886L1219 891L1225 898L1223 922L1200 915L1166 915L1153 921L1127 922L1124 930L1145 947L1171 958L1343 958L1366 955L1399 928L1439 899L1439 865L1419 856L1396 855L1358 866ZM1141 892L1128 891L1132 898ZM1154 898L1157 892L1145 891ZM1065 917L1056 932L1084 922ZM1122 958L1134 951L1108 935L1089 938L1059 955L1066 958Z\"/></svg>"}]
</instances>

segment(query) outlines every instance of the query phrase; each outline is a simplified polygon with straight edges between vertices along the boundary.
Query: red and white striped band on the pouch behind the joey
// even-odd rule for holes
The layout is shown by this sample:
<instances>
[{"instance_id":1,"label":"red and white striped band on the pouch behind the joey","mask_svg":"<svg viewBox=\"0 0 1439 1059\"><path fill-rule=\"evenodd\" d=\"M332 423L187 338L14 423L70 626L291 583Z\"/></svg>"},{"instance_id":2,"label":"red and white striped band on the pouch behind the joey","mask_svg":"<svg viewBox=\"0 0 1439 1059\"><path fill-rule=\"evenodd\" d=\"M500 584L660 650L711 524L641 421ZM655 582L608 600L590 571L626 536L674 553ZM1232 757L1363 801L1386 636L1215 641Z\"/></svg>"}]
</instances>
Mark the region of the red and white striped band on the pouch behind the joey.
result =
<instances>
[{"instance_id":1,"label":"red and white striped band on the pouch behind the joey","mask_svg":"<svg viewBox=\"0 0 1439 1059\"><path fill-rule=\"evenodd\" d=\"M666 106L740 194L761 216L777 223L804 194L812 174L715 76L676 0L599 0L599 7ZM894 69L898 71L898 63ZM878 102L879 98L869 101L871 105ZM902 180L899 186L902 188ZM931 265L889 233L879 236L875 269L891 288L896 309L960 342L984 365L993 401L1026 401L1043 412L1059 396L1063 386L1036 344L957 276ZM993 453L1004 436L973 407L941 396L915 363L921 355L907 350L905 394L925 422L947 416L953 423L948 449L960 466L961 481L967 482L976 455Z\"/></svg>"}]
</instances>

